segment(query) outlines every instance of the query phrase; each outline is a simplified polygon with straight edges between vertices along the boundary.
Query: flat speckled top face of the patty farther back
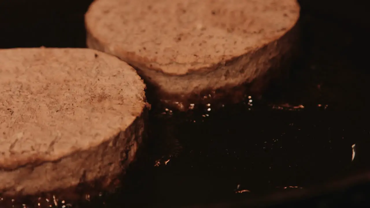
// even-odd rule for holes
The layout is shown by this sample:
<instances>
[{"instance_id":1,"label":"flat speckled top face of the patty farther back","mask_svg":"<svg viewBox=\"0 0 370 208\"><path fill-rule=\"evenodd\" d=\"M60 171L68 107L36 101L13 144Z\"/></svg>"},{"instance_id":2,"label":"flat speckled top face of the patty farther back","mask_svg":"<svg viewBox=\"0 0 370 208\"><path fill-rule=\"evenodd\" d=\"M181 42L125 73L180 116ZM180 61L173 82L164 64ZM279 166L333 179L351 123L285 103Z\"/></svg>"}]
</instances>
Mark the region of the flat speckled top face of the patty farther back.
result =
<instances>
[{"instance_id":1,"label":"flat speckled top face of the patty farther back","mask_svg":"<svg viewBox=\"0 0 370 208\"><path fill-rule=\"evenodd\" d=\"M85 23L105 52L183 75L275 41L299 10L296 0L95 0Z\"/></svg>"}]
</instances>

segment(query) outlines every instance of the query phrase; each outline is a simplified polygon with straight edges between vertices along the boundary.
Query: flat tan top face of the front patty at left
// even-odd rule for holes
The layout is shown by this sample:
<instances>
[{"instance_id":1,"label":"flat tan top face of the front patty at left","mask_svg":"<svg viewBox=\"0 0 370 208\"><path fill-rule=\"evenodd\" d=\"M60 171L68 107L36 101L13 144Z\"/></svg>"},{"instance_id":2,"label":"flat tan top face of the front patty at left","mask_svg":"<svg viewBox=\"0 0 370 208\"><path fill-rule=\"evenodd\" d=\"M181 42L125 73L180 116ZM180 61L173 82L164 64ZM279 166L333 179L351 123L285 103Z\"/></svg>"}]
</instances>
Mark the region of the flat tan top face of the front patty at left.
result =
<instances>
[{"instance_id":1,"label":"flat tan top face of the front patty at left","mask_svg":"<svg viewBox=\"0 0 370 208\"><path fill-rule=\"evenodd\" d=\"M0 50L0 168L97 147L141 115L145 85L91 49Z\"/></svg>"}]
</instances>

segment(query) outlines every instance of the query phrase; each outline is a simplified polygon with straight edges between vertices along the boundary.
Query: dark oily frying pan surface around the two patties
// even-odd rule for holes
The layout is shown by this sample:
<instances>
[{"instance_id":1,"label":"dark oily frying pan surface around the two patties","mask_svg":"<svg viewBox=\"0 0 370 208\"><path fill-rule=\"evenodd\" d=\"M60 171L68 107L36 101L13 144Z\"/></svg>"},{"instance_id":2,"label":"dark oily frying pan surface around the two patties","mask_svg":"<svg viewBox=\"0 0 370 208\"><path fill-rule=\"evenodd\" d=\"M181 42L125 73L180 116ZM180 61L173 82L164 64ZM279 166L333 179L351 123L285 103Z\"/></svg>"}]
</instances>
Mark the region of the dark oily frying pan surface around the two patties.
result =
<instances>
[{"instance_id":1,"label":"dark oily frying pan surface around the two patties","mask_svg":"<svg viewBox=\"0 0 370 208\"><path fill-rule=\"evenodd\" d=\"M16 8L27 3L1 3L0 48L85 47L88 3L74 9L40 3L21 11ZM16 19L21 13L29 15L27 24ZM14 20L5 21L8 16ZM305 10L300 21L303 56L287 80L272 84L261 100L247 97L217 111L154 106L149 141L122 179L124 188L73 207L364 203L361 196L370 192L369 33ZM58 207L67 204L61 200Z\"/></svg>"}]
</instances>

